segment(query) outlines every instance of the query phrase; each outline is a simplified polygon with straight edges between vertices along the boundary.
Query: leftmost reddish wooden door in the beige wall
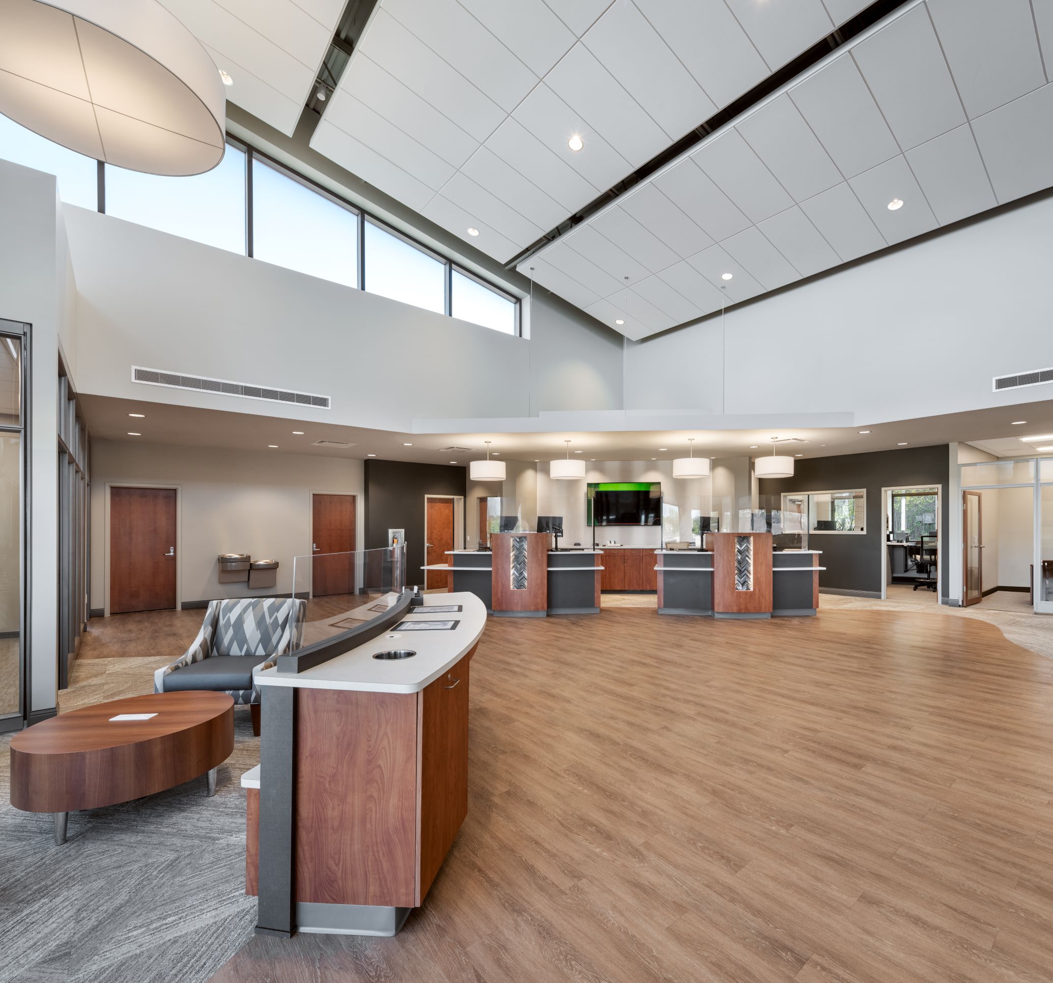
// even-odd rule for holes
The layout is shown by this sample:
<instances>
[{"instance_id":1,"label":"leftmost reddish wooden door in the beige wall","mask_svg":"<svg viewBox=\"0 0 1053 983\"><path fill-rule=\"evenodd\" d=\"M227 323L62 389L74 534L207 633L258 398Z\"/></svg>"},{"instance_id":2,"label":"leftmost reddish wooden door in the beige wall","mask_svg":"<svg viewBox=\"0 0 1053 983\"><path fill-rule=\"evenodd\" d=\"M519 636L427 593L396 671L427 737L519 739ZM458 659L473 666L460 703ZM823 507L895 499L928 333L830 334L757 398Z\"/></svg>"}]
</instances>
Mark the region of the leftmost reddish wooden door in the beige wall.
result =
<instances>
[{"instance_id":1,"label":"leftmost reddish wooden door in the beige wall","mask_svg":"<svg viewBox=\"0 0 1053 983\"><path fill-rule=\"evenodd\" d=\"M176 489L110 489L110 613L176 606Z\"/></svg>"}]
</instances>

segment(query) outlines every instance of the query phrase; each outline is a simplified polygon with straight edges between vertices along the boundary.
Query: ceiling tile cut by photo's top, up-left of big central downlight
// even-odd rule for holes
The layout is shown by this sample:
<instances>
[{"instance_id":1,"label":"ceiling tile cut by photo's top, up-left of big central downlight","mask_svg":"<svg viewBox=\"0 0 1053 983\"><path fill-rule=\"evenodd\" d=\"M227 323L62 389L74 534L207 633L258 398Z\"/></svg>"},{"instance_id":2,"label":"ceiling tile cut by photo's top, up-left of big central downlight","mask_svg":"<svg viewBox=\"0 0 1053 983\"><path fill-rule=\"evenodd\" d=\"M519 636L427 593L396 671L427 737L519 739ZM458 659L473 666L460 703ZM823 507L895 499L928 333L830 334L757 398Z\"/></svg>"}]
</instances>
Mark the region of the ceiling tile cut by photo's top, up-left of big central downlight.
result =
<instances>
[{"instance_id":1,"label":"ceiling tile cut by photo's top, up-left of big central downlight","mask_svg":"<svg viewBox=\"0 0 1053 983\"><path fill-rule=\"evenodd\" d=\"M457 0L383 0L382 9L505 113L537 83L537 76Z\"/></svg>"}]
</instances>

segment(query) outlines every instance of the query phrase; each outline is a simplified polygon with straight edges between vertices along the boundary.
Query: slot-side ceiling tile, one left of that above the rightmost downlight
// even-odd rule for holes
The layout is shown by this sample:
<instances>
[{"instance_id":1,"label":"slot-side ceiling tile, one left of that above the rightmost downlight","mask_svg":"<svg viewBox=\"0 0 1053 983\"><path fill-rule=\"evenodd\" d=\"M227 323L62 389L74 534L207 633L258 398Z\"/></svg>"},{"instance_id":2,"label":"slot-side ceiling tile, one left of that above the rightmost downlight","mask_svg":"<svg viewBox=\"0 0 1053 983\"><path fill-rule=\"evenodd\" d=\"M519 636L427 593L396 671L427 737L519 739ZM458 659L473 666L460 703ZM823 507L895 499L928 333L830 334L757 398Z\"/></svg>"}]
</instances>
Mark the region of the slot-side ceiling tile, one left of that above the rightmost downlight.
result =
<instances>
[{"instance_id":1,"label":"slot-side ceiling tile, one left of that above the rightmost downlight","mask_svg":"<svg viewBox=\"0 0 1053 983\"><path fill-rule=\"evenodd\" d=\"M842 180L786 94L751 113L736 128L794 201L818 195Z\"/></svg>"}]
</instances>

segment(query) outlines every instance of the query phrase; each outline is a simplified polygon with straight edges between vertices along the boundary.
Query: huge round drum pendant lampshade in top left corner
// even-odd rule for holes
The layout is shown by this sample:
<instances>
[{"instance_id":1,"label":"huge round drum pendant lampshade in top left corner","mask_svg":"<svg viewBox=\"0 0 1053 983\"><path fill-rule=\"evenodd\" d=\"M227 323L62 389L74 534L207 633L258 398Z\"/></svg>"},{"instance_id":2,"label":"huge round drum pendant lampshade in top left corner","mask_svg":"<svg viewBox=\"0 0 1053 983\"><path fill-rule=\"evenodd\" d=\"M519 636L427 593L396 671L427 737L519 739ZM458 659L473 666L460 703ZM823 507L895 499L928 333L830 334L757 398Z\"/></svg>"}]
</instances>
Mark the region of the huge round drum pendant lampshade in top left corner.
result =
<instances>
[{"instance_id":1,"label":"huge round drum pendant lampshade in top left corner","mask_svg":"<svg viewBox=\"0 0 1053 983\"><path fill-rule=\"evenodd\" d=\"M0 113L130 170L223 159L226 96L207 52L157 0L0 0Z\"/></svg>"}]
</instances>

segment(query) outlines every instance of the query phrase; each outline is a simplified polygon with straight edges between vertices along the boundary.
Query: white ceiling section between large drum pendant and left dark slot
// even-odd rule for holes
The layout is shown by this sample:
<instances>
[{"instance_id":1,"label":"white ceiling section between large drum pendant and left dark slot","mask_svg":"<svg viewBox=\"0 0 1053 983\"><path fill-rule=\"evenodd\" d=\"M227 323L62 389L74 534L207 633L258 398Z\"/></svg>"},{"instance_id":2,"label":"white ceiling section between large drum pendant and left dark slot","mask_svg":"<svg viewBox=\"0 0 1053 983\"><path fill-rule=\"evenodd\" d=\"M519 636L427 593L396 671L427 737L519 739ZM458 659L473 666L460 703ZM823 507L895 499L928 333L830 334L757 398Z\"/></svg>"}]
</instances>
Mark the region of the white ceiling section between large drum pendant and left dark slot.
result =
<instances>
[{"instance_id":1,"label":"white ceiling section between large drum pendant and left dark slot","mask_svg":"<svg viewBox=\"0 0 1053 983\"><path fill-rule=\"evenodd\" d=\"M292 136L344 0L160 0L234 84L226 98Z\"/></svg>"}]
</instances>

